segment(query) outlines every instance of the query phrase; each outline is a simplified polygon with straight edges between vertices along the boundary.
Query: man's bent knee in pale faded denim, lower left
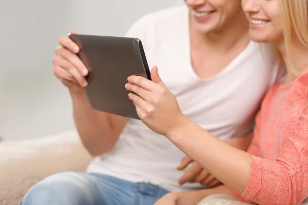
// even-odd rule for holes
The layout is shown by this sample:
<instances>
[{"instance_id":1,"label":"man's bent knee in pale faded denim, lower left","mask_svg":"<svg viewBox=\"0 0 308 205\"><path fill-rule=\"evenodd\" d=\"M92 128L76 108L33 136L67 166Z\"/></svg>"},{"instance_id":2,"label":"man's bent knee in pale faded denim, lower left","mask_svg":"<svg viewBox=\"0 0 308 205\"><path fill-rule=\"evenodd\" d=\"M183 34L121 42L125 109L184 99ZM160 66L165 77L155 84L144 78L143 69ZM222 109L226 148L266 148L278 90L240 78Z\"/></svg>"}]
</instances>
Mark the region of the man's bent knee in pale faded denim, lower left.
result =
<instances>
[{"instance_id":1,"label":"man's bent knee in pale faded denim, lower left","mask_svg":"<svg viewBox=\"0 0 308 205\"><path fill-rule=\"evenodd\" d=\"M22 205L94 204L96 186L81 173L54 174L34 185L23 198Z\"/></svg>"}]
</instances>

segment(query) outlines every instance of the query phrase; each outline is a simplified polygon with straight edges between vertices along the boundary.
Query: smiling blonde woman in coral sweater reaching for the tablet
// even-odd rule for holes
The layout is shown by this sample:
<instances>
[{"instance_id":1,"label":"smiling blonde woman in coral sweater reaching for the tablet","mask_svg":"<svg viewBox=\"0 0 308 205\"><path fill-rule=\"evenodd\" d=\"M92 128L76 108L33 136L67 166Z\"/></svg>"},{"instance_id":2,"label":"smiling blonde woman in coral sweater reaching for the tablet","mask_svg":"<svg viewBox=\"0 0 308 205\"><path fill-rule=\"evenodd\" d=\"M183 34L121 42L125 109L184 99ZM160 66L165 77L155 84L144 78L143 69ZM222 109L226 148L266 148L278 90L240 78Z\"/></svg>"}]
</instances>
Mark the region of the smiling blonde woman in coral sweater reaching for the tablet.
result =
<instances>
[{"instance_id":1,"label":"smiling blonde woman in coral sweater reaching for the tablet","mask_svg":"<svg viewBox=\"0 0 308 205\"><path fill-rule=\"evenodd\" d=\"M142 121L226 185L215 191L166 196L170 204L181 204L183 196L191 203L194 198L189 196L218 193L233 193L258 204L299 204L308 196L307 0L243 0L242 7L251 39L273 44L287 67L284 81L263 100L247 153L185 117L156 67L151 71L153 81L128 78L126 88L138 94L130 93L129 98Z\"/></svg>"}]
</instances>

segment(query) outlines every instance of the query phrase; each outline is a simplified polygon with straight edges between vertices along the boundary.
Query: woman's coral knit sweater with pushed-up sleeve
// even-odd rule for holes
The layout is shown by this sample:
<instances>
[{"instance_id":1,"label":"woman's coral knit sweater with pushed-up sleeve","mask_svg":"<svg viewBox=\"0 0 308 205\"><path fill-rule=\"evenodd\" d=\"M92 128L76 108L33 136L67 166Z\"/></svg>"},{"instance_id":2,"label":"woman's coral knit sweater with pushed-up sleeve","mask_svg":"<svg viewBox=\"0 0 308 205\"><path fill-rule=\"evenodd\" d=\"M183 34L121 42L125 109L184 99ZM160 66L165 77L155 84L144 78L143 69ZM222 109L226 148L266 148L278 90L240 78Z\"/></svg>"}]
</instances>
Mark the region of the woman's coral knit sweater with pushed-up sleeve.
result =
<instances>
[{"instance_id":1,"label":"woman's coral knit sweater with pushed-up sleeve","mask_svg":"<svg viewBox=\"0 0 308 205\"><path fill-rule=\"evenodd\" d=\"M308 72L275 85L256 118L252 173L242 194L258 204L300 204L308 197Z\"/></svg>"}]
</instances>

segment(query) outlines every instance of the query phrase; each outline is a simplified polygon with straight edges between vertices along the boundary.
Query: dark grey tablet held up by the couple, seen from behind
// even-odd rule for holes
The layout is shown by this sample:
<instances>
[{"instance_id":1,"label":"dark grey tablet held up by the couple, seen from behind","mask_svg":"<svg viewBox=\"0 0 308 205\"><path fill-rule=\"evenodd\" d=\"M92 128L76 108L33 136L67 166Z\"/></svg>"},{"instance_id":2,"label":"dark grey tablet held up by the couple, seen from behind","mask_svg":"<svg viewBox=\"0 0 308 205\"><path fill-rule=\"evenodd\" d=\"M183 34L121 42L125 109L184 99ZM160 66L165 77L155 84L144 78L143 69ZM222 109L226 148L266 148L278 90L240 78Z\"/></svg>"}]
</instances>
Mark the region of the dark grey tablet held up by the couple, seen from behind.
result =
<instances>
[{"instance_id":1,"label":"dark grey tablet held up by the couple, seen from behind","mask_svg":"<svg viewBox=\"0 0 308 205\"><path fill-rule=\"evenodd\" d=\"M69 34L69 38L80 47L78 56L89 70L85 93L91 107L140 119L125 84L130 75L151 80L141 40L82 34Z\"/></svg>"}]
</instances>

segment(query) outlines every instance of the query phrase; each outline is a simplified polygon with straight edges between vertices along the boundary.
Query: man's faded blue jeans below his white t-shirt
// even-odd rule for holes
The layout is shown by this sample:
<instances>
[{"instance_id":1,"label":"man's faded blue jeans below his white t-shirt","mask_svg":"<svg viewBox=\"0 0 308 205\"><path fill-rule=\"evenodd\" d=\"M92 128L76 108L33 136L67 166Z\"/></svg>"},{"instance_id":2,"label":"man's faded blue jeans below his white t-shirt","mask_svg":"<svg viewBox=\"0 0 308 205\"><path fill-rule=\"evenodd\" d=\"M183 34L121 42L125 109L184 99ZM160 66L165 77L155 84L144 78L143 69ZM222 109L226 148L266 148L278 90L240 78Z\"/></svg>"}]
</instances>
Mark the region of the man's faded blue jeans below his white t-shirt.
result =
<instances>
[{"instance_id":1,"label":"man's faded blue jeans below his white t-shirt","mask_svg":"<svg viewBox=\"0 0 308 205\"><path fill-rule=\"evenodd\" d=\"M34 185L22 205L152 205L168 191L149 183L115 177L64 172Z\"/></svg>"}]
</instances>

